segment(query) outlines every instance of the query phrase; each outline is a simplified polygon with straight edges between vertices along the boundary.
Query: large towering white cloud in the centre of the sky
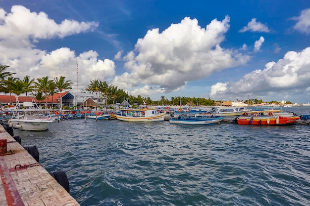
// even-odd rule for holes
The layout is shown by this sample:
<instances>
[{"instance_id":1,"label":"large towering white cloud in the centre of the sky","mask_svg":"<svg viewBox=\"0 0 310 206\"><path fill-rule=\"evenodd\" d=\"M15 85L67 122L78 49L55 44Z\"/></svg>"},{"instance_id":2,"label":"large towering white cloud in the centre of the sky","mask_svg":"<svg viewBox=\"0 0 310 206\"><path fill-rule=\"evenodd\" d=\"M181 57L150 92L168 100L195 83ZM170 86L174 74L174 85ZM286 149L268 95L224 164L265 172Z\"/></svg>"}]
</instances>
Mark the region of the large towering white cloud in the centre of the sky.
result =
<instances>
[{"instance_id":1,"label":"large towering white cloud in the centre of the sky","mask_svg":"<svg viewBox=\"0 0 310 206\"><path fill-rule=\"evenodd\" d=\"M229 22L226 16L222 21L214 19L206 28L201 28L197 19L185 17L162 33L158 29L149 30L137 41L135 50L124 57L128 72L115 77L112 83L126 86L123 88L138 86L139 82L149 86L145 88L154 89L152 85L159 85L157 89L167 93L189 81L246 64L249 56L220 46L229 30Z\"/></svg>"}]
</instances>

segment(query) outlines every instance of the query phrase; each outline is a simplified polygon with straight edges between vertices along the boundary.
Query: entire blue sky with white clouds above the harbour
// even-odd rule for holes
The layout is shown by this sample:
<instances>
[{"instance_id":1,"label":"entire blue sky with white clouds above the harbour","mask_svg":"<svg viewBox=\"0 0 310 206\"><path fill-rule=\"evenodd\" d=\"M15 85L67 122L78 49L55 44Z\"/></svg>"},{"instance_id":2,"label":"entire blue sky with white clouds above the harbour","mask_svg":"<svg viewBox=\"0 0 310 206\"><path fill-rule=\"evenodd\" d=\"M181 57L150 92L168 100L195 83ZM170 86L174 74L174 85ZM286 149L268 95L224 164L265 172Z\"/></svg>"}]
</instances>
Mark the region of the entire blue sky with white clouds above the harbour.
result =
<instances>
[{"instance_id":1,"label":"entire blue sky with white clouds above the harbour","mask_svg":"<svg viewBox=\"0 0 310 206\"><path fill-rule=\"evenodd\" d=\"M310 102L309 0L0 0L0 64L128 94Z\"/></svg>"}]
</instances>

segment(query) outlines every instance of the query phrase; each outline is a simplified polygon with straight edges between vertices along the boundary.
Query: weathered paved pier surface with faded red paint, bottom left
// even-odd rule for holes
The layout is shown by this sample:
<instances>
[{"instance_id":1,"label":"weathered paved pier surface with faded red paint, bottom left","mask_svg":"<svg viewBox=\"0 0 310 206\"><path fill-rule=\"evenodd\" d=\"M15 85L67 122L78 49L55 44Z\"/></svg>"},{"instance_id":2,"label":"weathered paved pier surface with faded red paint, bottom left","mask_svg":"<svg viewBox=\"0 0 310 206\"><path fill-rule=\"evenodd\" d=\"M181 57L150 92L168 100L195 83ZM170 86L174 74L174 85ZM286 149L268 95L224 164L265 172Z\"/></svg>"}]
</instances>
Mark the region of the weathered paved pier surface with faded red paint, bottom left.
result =
<instances>
[{"instance_id":1,"label":"weathered paved pier surface with faded red paint, bottom left","mask_svg":"<svg viewBox=\"0 0 310 206\"><path fill-rule=\"evenodd\" d=\"M7 153L0 154L1 206L79 206L1 125L0 139L7 140Z\"/></svg>"}]
</instances>

